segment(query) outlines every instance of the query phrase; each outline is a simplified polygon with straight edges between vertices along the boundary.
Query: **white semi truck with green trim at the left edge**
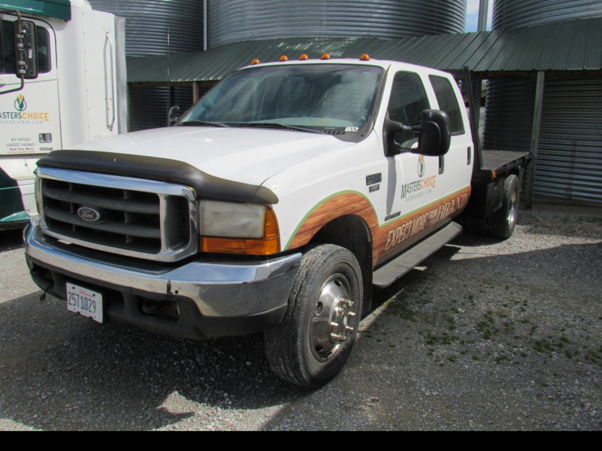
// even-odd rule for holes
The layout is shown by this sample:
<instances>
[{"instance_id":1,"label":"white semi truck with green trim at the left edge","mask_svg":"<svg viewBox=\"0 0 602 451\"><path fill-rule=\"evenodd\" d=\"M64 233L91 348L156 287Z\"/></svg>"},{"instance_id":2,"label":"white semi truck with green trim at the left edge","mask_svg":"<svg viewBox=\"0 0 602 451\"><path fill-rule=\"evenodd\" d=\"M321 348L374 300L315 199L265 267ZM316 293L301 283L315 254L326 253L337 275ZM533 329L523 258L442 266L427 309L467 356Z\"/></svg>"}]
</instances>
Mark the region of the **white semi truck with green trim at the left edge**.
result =
<instances>
[{"instance_id":1,"label":"white semi truck with green trim at the left edge","mask_svg":"<svg viewBox=\"0 0 602 451\"><path fill-rule=\"evenodd\" d=\"M52 150L125 132L125 19L85 0L0 0L0 230L36 212Z\"/></svg>"}]
</instances>

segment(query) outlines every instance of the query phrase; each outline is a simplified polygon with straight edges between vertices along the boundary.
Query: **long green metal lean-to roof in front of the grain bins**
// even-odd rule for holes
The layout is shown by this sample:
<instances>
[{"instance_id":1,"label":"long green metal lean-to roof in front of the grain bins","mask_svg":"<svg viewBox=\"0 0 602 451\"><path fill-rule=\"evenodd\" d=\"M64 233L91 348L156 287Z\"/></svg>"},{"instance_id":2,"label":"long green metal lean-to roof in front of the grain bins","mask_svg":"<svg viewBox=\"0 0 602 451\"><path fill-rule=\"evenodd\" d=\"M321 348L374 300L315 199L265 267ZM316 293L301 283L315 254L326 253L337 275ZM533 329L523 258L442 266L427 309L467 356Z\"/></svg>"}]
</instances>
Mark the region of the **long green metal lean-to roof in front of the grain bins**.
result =
<instances>
[{"instance_id":1,"label":"long green metal lean-to roof in front of the grain bins","mask_svg":"<svg viewBox=\"0 0 602 451\"><path fill-rule=\"evenodd\" d=\"M521 29L444 34L403 39L286 38L241 41L205 52L128 58L128 82L214 81L253 58L320 58L404 61L441 70L468 66L477 73L602 69L602 19L570 20Z\"/></svg>"}]
</instances>

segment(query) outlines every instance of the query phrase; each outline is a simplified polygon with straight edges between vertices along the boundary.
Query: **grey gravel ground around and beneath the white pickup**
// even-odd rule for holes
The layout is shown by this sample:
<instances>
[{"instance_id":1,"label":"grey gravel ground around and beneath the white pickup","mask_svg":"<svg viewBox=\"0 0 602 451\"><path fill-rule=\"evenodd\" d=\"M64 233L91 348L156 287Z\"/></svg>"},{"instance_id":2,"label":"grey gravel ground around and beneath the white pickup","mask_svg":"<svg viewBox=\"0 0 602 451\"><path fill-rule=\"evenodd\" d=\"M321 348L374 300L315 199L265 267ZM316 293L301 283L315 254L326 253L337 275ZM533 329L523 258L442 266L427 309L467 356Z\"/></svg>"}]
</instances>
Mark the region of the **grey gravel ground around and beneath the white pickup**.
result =
<instances>
[{"instance_id":1,"label":"grey gravel ground around and beneath the white pickup","mask_svg":"<svg viewBox=\"0 0 602 451\"><path fill-rule=\"evenodd\" d=\"M320 390L261 335L206 342L67 312L0 233L0 429L602 429L602 220L521 212L386 290Z\"/></svg>"}]
</instances>

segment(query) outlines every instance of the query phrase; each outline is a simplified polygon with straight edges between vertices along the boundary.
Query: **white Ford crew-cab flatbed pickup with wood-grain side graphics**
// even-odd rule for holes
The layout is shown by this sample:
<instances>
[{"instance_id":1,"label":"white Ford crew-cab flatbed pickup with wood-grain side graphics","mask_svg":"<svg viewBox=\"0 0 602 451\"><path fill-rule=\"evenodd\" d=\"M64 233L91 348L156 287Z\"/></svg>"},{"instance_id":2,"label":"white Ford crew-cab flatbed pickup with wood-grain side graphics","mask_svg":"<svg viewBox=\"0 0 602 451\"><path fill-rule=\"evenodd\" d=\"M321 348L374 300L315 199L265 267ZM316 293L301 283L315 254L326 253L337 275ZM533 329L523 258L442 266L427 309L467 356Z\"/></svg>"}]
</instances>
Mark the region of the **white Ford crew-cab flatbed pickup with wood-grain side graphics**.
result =
<instances>
[{"instance_id":1,"label":"white Ford crew-cab flatbed pickup with wood-grain side graphics","mask_svg":"<svg viewBox=\"0 0 602 451\"><path fill-rule=\"evenodd\" d=\"M453 219L512 234L530 154L481 151L448 73L367 55L253 63L175 126L40 159L26 260L98 322L264 331L272 370L317 387L372 287L461 233Z\"/></svg>"}]
</instances>

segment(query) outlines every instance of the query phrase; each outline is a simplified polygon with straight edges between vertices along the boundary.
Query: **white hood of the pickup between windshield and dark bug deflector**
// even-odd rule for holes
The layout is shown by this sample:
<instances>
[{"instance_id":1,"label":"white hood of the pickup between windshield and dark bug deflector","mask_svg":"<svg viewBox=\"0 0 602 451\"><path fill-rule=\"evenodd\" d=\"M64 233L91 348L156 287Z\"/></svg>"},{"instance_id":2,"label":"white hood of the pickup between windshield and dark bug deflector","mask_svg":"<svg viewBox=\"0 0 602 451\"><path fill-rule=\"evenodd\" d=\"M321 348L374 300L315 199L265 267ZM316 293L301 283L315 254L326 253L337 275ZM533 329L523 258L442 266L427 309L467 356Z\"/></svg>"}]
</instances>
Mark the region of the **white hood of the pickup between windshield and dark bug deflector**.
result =
<instances>
[{"instance_id":1,"label":"white hood of the pickup between windshield and dark bug deflector","mask_svg":"<svg viewBox=\"0 0 602 451\"><path fill-rule=\"evenodd\" d=\"M261 185L300 162L350 144L309 132L176 126L102 138L72 149L169 158L222 179Z\"/></svg>"}]
</instances>

